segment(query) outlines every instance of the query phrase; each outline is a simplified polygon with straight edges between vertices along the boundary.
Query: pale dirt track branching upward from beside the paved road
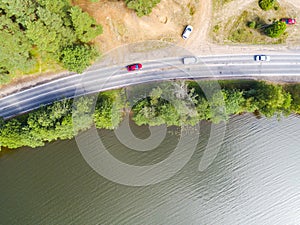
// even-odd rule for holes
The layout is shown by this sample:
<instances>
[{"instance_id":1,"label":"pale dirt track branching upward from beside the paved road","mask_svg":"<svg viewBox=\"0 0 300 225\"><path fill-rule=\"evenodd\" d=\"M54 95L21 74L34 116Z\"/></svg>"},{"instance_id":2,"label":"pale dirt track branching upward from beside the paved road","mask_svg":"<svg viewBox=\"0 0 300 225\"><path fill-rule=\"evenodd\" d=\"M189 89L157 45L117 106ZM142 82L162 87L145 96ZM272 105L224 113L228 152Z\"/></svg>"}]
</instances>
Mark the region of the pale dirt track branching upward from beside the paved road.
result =
<instances>
[{"instance_id":1,"label":"pale dirt track branching upward from beside the paved road","mask_svg":"<svg viewBox=\"0 0 300 225\"><path fill-rule=\"evenodd\" d=\"M224 21L226 19L238 15L247 6L253 3L254 0L234 0L227 5L225 5L221 10L214 13L217 18L222 18ZM279 3L290 3L300 10L300 0L278 0ZM238 7L237 7L238 6ZM209 29L212 23L213 11L212 11L212 1L201 0L201 10L195 15L193 36L186 41L181 41L179 45L184 46L186 49L190 50L195 55L210 55L210 54L241 54L241 53L261 53L262 51L290 51L299 50L300 43L289 43L284 45L216 45L209 40ZM299 31L298 31L299 32Z\"/></svg>"}]
</instances>

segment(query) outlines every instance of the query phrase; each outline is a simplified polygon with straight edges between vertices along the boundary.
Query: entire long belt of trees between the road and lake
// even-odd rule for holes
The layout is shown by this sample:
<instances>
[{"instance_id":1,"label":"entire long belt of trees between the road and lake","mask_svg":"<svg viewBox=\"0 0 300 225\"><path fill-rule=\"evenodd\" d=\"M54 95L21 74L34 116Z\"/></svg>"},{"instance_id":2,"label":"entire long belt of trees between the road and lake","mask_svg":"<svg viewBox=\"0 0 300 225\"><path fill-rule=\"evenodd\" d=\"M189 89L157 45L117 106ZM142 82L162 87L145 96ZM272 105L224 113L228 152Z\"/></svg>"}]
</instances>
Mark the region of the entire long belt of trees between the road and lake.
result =
<instances>
[{"instance_id":1,"label":"entire long belt of trees between the road and lake","mask_svg":"<svg viewBox=\"0 0 300 225\"><path fill-rule=\"evenodd\" d=\"M209 86L209 82L203 84ZM149 90L142 88L145 97L132 107L126 89L119 89L76 101L64 99L9 120L1 119L0 146L35 148L58 139L71 139L92 126L115 129L128 112L137 125L150 126L195 125L201 120L220 123L242 113L278 118L300 113L299 84L219 81L221 90L208 98L198 83L174 81L159 83Z\"/></svg>"}]
</instances>

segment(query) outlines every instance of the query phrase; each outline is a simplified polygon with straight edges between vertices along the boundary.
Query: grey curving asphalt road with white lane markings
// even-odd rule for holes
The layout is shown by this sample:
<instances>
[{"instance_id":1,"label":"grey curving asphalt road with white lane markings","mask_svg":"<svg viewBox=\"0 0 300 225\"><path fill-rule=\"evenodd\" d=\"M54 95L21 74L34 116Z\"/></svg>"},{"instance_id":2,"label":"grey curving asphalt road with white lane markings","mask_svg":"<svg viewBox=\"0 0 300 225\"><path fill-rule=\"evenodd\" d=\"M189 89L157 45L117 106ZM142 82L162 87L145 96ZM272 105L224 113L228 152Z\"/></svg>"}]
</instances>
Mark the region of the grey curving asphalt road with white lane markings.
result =
<instances>
[{"instance_id":1,"label":"grey curving asphalt road with white lane markings","mask_svg":"<svg viewBox=\"0 0 300 225\"><path fill-rule=\"evenodd\" d=\"M97 68L3 97L0 116L7 119L63 98L153 81L300 76L299 54L270 56L270 62L256 62L253 55L206 56L198 57L193 65L184 65L182 58L165 58L140 61L143 69L134 72L127 72L126 65Z\"/></svg>"}]
</instances>

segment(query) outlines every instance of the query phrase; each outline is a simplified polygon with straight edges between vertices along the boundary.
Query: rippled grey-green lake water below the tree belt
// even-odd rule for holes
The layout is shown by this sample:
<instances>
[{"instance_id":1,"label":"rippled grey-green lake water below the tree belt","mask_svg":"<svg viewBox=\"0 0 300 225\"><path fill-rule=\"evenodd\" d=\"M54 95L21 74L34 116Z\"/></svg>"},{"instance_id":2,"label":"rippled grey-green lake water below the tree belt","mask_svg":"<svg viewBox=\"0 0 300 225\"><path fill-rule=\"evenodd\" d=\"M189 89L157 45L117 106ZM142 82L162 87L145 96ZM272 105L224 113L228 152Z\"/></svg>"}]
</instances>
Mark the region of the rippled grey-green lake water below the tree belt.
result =
<instances>
[{"instance_id":1,"label":"rippled grey-green lake water below the tree belt","mask_svg":"<svg viewBox=\"0 0 300 225\"><path fill-rule=\"evenodd\" d=\"M201 122L196 148L183 151L190 160L168 179L155 183L165 171L152 175L149 185L105 178L75 139L12 151L0 157L0 224L300 224L299 128L295 115L234 116L216 157L199 171L211 131ZM146 126L131 129L137 138L150 135ZM98 134L114 158L140 168L167 159L179 143L179 128L159 129L165 138L144 152L125 147L112 131Z\"/></svg>"}]
</instances>

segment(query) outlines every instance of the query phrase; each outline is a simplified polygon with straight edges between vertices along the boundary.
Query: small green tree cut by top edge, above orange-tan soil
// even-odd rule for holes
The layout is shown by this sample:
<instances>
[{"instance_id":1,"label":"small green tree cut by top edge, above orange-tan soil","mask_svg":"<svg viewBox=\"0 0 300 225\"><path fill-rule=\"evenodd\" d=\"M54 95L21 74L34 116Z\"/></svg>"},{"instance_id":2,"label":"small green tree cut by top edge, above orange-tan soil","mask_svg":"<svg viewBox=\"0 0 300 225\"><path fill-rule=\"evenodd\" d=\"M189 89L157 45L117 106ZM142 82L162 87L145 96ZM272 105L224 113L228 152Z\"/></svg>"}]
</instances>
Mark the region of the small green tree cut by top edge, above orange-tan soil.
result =
<instances>
[{"instance_id":1,"label":"small green tree cut by top edge, above orange-tan soil","mask_svg":"<svg viewBox=\"0 0 300 225\"><path fill-rule=\"evenodd\" d=\"M149 15L160 0L125 0L129 9L134 9L139 17Z\"/></svg>"}]
</instances>

